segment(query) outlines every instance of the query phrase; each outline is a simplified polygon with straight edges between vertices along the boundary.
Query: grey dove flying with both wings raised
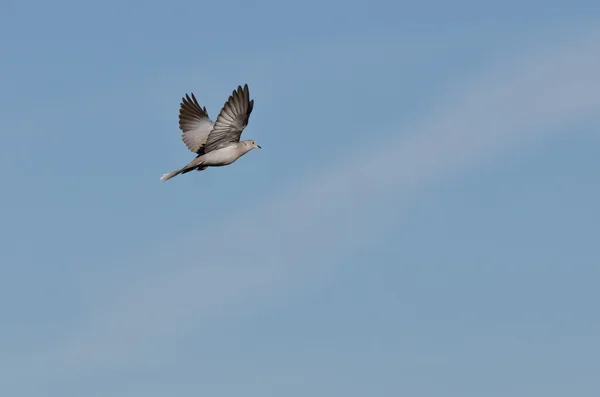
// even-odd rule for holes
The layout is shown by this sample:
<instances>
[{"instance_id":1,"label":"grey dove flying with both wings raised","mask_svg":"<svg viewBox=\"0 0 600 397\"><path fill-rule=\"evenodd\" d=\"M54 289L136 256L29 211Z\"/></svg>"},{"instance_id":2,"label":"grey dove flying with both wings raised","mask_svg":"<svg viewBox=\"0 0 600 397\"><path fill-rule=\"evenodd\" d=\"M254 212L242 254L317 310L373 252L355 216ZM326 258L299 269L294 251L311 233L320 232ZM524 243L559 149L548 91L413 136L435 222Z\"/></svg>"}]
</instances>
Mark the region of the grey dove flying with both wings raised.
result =
<instances>
[{"instance_id":1,"label":"grey dove flying with both wings raised","mask_svg":"<svg viewBox=\"0 0 600 397\"><path fill-rule=\"evenodd\" d=\"M191 98L185 94L179 108L179 129L183 143L196 153L196 158L183 168L163 174L161 181L194 170L229 165L252 149L261 149L254 139L240 140L253 108L248 84L233 90L214 122L193 92Z\"/></svg>"}]
</instances>

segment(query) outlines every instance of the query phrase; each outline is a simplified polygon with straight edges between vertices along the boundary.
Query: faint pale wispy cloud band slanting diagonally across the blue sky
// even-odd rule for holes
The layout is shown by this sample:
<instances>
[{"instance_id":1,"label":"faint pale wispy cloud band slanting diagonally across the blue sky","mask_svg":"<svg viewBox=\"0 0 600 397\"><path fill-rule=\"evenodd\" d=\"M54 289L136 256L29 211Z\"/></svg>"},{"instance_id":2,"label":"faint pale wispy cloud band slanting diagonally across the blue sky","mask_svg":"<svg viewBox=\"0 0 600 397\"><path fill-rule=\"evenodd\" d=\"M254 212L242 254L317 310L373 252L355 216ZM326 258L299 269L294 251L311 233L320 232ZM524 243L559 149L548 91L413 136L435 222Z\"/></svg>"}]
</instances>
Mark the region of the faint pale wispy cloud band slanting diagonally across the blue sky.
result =
<instances>
[{"instance_id":1,"label":"faint pale wispy cloud band slanting diagonally across the blue sky","mask_svg":"<svg viewBox=\"0 0 600 397\"><path fill-rule=\"evenodd\" d=\"M174 238L150 259L164 270L132 280L91 312L51 361L65 371L138 365L207 316L290 277L310 277L376 238L380 201L399 200L501 150L597 116L600 31L589 33L494 64L446 92L426 119L402 126L409 137L349 150L351 156L260 208L186 242Z\"/></svg>"}]
</instances>

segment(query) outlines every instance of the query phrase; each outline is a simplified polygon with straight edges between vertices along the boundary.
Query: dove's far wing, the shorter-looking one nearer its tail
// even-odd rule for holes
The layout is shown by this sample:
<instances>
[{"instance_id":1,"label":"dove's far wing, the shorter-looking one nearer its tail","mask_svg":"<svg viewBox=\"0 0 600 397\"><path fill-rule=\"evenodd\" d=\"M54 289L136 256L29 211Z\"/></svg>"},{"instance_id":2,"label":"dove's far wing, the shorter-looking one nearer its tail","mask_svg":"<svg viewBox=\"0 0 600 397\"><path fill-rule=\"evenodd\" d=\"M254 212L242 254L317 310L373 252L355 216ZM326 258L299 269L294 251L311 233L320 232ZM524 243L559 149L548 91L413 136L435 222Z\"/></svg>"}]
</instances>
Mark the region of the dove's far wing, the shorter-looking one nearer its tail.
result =
<instances>
[{"instance_id":1,"label":"dove's far wing, the shorter-looking one nearer its tail","mask_svg":"<svg viewBox=\"0 0 600 397\"><path fill-rule=\"evenodd\" d=\"M183 132L181 139L185 146L194 153L204 154L204 144L213 125L206 112L206 106L201 108L193 93L191 98L185 94L179 108L179 129Z\"/></svg>"}]
</instances>

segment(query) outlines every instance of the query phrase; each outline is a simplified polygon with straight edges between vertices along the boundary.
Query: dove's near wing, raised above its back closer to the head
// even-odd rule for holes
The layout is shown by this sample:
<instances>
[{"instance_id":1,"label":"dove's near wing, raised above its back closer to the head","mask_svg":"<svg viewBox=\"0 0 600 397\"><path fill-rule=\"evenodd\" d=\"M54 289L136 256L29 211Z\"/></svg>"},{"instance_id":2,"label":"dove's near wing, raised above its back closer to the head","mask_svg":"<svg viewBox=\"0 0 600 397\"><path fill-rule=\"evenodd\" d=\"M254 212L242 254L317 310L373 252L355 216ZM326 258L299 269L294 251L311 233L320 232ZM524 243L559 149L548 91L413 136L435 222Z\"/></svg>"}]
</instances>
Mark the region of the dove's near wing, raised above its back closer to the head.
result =
<instances>
[{"instance_id":1,"label":"dove's near wing, raised above its back closer to the head","mask_svg":"<svg viewBox=\"0 0 600 397\"><path fill-rule=\"evenodd\" d=\"M238 86L237 91L233 91L225 102L212 131L208 134L204 146L206 153L239 142L253 107L254 99L250 100L248 84L245 84L243 89Z\"/></svg>"}]
</instances>

